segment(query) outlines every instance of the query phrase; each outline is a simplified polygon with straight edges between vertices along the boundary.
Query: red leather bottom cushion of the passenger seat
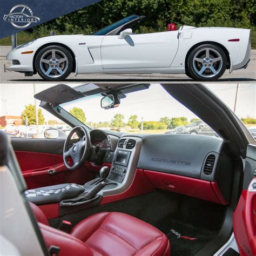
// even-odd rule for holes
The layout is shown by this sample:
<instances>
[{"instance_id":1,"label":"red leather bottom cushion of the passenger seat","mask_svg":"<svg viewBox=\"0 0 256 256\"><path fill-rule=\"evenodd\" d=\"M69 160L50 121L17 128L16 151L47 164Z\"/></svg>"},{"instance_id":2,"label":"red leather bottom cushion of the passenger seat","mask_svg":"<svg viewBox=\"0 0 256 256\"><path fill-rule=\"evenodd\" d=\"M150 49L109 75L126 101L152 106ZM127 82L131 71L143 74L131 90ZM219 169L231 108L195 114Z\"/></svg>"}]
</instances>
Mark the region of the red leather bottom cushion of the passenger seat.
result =
<instances>
[{"instance_id":1,"label":"red leather bottom cushion of the passenger seat","mask_svg":"<svg viewBox=\"0 0 256 256\"><path fill-rule=\"evenodd\" d=\"M94 214L80 221L70 234L104 255L170 255L170 243L165 234L125 213Z\"/></svg>"}]
</instances>

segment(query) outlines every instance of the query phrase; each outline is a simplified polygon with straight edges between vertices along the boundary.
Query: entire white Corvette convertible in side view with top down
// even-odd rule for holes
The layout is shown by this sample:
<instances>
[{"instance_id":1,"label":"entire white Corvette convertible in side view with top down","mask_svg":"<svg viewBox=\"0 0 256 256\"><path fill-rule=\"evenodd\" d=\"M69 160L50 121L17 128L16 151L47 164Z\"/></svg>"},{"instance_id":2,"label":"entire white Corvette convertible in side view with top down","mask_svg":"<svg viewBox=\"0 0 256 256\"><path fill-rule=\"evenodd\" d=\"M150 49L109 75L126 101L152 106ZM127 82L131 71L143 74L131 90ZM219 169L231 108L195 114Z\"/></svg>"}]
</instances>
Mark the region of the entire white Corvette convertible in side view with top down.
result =
<instances>
[{"instance_id":1,"label":"entire white Corvette convertible in side view with top down","mask_svg":"<svg viewBox=\"0 0 256 256\"><path fill-rule=\"evenodd\" d=\"M220 78L226 69L246 68L250 30L195 28L168 24L167 31L134 34L132 25L145 16L132 15L93 35L49 36L19 45L6 59L11 71L45 80L82 73L186 73L201 81Z\"/></svg>"}]
</instances>

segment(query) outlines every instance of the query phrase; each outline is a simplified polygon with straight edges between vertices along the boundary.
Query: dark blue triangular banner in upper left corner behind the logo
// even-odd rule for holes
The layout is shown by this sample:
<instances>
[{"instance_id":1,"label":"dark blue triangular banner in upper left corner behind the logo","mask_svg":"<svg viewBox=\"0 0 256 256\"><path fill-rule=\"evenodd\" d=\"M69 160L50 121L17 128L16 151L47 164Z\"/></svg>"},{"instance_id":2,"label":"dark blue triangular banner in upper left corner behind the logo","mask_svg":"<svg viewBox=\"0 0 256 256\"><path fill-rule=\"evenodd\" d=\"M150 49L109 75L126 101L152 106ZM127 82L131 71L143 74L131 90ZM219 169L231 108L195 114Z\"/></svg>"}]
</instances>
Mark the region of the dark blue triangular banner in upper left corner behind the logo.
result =
<instances>
[{"instance_id":1,"label":"dark blue triangular banner in upper left corner behind the logo","mask_svg":"<svg viewBox=\"0 0 256 256\"><path fill-rule=\"evenodd\" d=\"M0 38L30 29L100 0L0 0Z\"/></svg>"}]
</instances>

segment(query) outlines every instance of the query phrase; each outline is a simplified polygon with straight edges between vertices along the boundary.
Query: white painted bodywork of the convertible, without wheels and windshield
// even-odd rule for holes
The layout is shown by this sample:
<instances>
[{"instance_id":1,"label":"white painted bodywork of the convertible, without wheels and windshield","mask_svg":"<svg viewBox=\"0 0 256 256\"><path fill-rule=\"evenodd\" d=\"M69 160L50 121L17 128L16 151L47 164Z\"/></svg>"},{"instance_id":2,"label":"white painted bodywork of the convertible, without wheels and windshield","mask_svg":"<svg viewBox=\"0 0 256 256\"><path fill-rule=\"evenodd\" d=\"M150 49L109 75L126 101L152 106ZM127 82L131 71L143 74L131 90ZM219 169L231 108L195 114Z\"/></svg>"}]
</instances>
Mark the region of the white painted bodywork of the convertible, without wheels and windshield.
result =
<instances>
[{"instance_id":1,"label":"white painted bodywork of the convertible, without wheels and windshield","mask_svg":"<svg viewBox=\"0 0 256 256\"><path fill-rule=\"evenodd\" d=\"M236 38L239 42L228 42L229 39ZM11 64L7 69L35 72L33 60L36 51L46 44L57 43L73 52L76 75L79 73L185 73L188 51L194 45L205 42L214 42L226 48L227 59L231 57L230 71L244 68L250 59L251 43L248 29L183 26L177 31L131 35L125 39L119 39L114 35L43 37L31 45L10 51L6 59L17 59L21 64ZM33 51L33 53L21 54L25 51Z\"/></svg>"}]
</instances>

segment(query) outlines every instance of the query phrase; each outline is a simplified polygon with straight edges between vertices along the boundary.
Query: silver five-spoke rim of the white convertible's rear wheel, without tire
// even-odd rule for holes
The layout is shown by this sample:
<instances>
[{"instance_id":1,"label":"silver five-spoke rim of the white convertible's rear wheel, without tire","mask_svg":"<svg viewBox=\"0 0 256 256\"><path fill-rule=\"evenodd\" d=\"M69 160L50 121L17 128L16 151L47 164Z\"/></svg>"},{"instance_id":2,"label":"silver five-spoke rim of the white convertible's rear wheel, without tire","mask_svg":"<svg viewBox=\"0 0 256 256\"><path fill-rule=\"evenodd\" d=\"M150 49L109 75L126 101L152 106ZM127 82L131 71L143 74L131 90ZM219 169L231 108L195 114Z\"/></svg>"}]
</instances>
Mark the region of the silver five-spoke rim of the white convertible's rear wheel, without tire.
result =
<instances>
[{"instance_id":1,"label":"silver five-spoke rim of the white convertible's rear wheel, without tire","mask_svg":"<svg viewBox=\"0 0 256 256\"><path fill-rule=\"evenodd\" d=\"M217 76L222 66L223 58L217 50L212 48L199 50L193 58L193 68L201 77Z\"/></svg>"}]
</instances>

